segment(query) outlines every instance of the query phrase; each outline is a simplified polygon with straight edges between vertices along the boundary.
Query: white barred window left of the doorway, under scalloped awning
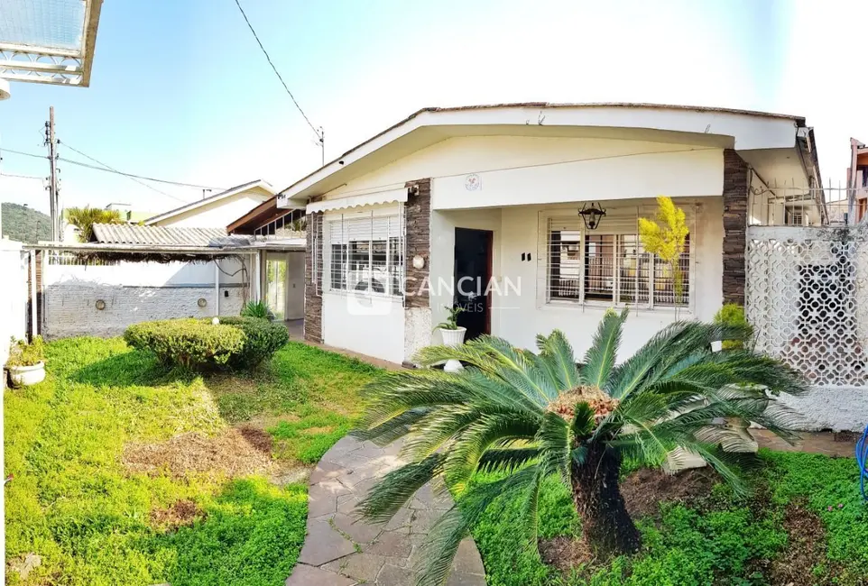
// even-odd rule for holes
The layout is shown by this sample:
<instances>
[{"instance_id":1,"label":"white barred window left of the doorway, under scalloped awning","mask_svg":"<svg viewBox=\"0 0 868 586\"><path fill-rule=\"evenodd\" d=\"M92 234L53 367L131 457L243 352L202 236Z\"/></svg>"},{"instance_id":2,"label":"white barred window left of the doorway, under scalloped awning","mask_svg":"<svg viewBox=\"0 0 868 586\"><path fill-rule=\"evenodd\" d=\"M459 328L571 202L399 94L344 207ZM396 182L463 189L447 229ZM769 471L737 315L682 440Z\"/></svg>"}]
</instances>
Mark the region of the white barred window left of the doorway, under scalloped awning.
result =
<instances>
[{"instance_id":1,"label":"white barred window left of the doorway, under scalloped awning","mask_svg":"<svg viewBox=\"0 0 868 586\"><path fill-rule=\"evenodd\" d=\"M403 294L400 215L344 215L328 220L328 284L332 291Z\"/></svg>"}]
</instances>

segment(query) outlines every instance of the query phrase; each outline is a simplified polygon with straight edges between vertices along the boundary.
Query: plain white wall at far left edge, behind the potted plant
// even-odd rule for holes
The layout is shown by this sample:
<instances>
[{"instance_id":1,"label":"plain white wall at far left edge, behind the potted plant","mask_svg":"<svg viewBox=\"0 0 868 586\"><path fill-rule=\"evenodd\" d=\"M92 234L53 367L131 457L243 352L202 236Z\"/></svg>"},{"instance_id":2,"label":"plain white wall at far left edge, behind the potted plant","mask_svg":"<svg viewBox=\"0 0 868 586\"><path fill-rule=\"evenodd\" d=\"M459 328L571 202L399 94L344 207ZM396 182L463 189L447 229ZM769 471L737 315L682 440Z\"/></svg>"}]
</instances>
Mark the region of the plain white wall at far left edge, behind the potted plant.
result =
<instances>
[{"instance_id":1,"label":"plain white wall at far left edge, behind the potted plant","mask_svg":"<svg viewBox=\"0 0 868 586\"><path fill-rule=\"evenodd\" d=\"M27 255L21 243L0 239L0 367L9 358L9 340L27 333Z\"/></svg>"}]
</instances>

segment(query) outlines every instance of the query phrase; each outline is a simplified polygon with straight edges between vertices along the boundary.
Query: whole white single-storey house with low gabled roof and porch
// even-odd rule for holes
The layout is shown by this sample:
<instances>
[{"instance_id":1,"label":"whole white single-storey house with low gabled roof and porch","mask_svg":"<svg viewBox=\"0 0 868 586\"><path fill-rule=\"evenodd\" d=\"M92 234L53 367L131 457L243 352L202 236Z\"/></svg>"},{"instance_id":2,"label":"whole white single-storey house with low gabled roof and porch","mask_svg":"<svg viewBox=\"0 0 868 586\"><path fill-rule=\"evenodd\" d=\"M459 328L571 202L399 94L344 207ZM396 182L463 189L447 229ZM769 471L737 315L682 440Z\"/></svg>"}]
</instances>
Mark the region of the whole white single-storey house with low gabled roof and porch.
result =
<instances>
[{"instance_id":1,"label":"whole white single-storey house with low gabled roof and porch","mask_svg":"<svg viewBox=\"0 0 868 586\"><path fill-rule=\"evenodd\" d=\"M745 233L769 187L821 185L804 118L642 104L426 108L300 179L305 336L391 362L467 335L522 347L560 328L581 355L609 307L630 307L622 357L677 318L744 303ZM753 195L750 195L753 194ZM642 251L640 216L673 197L688 217L683 298ZM824 222L822 202L801 221ZM605 211L596 229L579 214ZM676 307L678 306L678 307Z\"/></svg>"}]
</instances>

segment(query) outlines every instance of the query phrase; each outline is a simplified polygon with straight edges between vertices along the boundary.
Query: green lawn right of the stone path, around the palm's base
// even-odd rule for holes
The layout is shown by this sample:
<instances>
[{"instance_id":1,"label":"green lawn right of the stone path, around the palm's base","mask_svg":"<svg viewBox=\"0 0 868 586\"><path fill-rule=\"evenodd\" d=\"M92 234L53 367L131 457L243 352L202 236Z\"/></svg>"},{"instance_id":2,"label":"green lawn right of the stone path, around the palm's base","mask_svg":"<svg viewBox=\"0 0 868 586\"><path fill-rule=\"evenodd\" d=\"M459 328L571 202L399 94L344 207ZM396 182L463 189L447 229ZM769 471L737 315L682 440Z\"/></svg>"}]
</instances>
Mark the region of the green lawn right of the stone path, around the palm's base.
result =
<instances>
[{"instance_id":1,"label":"green lawn right of the stone path, around the palm's base","mask_svg":"<svg viewBox=\"0 0 868 586\"><path fill-rule=\"evenodd\" d=\"M690 502L662 502L639 520L640 554L579 564L561 573L535 552L515 547L523 501L489 508L473 535L489 586L862 586L868 576L868 506L853 458L761 451L755 490L736 499L724 485ZM493 481L479 476L476 481ZM567 490L556 482L540 496L540 537L580 528Z\"/></svg>"}]
</instances>

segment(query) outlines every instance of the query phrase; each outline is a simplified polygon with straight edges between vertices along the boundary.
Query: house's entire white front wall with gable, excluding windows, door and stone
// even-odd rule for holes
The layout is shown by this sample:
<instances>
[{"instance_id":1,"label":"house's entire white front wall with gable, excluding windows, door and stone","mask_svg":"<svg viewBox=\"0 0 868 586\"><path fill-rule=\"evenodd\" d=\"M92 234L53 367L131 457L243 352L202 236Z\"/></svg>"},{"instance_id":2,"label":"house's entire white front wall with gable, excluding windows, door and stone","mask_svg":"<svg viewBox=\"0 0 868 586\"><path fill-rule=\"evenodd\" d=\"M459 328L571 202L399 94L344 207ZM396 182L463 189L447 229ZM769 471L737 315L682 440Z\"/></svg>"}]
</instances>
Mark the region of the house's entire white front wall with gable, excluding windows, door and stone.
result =
<instances>
[{"instance_id":1,"label":"house's entire white front wall with gable, excluding windows, door and stone","mask_svg":"<svg viewBox=\"0 0 868 586\"><path fill-rule=\"evenodd\" d=\"M478 188L466 188L469 173L476 174ZM370 324L352 319L346 300L341 298L341 306L337 299L327 299L326 293L323 340L392 362L401 362L399 356L409 359L424 343L440 343L430 325L445 319L444 306L451 306L452 296L437 281L451 281L455 228L464 227L494 233L492 272L502 288L507 277L522 284L521 296L494 296L492 334L533 348L536 334L557 327L568 334L578 353L584 353L605 307L555 307L539 302L538 262L545 262L537 254L540 212L559 207L574 214L582 201L600 201L604 207L653 206L653 197L658 195L688 197L690 206L701 206L691 235L695 306L680 308L679 317L711 319L723 297L723 175L721 149L670 142L466 136L433 144L325 195L326 200L339 199L402 188L412 179L433 178L429 312L423 309L408 316L395 303L387 316L381 316L372 339L367 334L372 331ZM328 236L323 240L328 242ZM535 261L522 262L522 252L531 252ZM328 260L325 265L328 267ZM626 326L622 357L674 319L671 308L634 309Z\"/></svg>"}]
</instances>

